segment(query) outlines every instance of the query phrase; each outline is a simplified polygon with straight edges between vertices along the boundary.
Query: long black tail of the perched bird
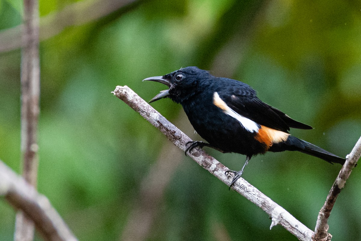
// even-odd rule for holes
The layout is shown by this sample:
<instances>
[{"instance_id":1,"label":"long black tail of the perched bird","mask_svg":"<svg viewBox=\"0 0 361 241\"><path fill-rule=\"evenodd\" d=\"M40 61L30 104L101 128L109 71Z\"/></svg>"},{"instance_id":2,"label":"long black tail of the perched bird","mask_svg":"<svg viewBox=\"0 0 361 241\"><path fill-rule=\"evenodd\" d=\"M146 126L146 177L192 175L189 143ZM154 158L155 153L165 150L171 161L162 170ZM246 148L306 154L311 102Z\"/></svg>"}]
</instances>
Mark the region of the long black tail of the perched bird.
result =
<instances>
[{"instance_id":1,"label":"long black tail of the perched bird","mask_svg":"<svg viewBox=\"0 0 361 241\"><path fill-rule=\"evenodd\" d=\"M279 143L281 144L281 143ZM270 151L280 151L280 148L285 148L286 150L290 151L300 151L312 156L316 156L318 158L321 158L329 163L340 163L343 165L345 163L345 159L341 158L339 156L336 156L332 154L331 152L328 152L326 150L323 150L322 148L315 146L309 142L306 142L304 140L301 140L297 137L293 137L290 135L287 138L287 141L283 142L281 146L275 146L275 149L272 150L272 147L270 148Z\"/></svg>"}]
</instances>

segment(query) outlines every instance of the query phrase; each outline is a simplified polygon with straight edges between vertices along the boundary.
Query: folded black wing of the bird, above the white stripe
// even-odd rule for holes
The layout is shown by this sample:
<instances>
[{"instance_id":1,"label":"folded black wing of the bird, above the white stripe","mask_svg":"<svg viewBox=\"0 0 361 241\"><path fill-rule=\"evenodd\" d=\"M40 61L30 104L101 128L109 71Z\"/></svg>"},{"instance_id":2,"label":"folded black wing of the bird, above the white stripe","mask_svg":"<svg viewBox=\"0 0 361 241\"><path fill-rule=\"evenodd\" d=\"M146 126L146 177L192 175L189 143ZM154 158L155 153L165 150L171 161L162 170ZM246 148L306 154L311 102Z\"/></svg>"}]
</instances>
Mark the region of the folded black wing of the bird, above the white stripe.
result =
<instances>
[{"instance_id":1,"label":"folded black wing of the bird, above the white stripe","mask_svg":"<svg viewBox=\"0 0 361 241\"><path fill-rule=\"evenodd\" d=\"M225 89L218 91L218 95L227 106L239 115L247 117L260 125L287 133L290 127L312 129L311 126L295 121L279 109L262 102L257 98L255 90L247 84L237 82L228 82Z\"/></svg>"}]
</instances>

